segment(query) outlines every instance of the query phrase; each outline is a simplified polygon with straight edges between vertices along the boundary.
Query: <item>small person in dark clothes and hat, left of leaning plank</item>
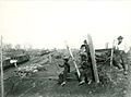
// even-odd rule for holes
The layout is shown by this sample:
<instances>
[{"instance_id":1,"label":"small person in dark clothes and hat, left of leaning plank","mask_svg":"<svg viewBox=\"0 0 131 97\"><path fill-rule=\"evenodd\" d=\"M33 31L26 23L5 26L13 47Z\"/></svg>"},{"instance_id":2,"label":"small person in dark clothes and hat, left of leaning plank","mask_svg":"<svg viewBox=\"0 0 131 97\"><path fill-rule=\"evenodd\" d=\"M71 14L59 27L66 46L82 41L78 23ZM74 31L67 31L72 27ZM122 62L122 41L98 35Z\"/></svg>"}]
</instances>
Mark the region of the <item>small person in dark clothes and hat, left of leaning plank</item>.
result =
<instances>
[{"instance_id":1,"label":"small person in dark clothes and hat, left of leaning plank","mask_svg":"<svg viewBox=\"0 0 131 97\"><path fill-rule=\"evenodd\" d=\"M69 64L69 57L64 56L63 57L63 65L60 65L60 68L64 68L63 72L62 72L62 83L61 83L61 86L66 85L66 82L67 82L67 75L68 73L70 73L70 64Z\"/></svg>"}]
</instances>

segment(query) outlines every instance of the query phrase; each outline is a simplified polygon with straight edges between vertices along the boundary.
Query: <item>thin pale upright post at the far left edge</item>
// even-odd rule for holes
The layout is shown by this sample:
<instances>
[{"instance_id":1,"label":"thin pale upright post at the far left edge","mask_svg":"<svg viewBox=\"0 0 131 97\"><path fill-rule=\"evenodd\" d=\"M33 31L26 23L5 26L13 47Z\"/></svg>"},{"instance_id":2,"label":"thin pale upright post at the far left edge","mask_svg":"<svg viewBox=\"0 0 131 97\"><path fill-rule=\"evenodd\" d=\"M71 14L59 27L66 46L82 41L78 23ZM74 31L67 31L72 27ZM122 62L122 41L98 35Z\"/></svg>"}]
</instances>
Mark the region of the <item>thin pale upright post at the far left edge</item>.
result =
<instances>
[{"instance_id":1,"label":"thin pale upright post at the far left edge","mask_svg":"<svg viewBox=\"0 0 131 97\"><path fill-rule=\"evenodd\" d=\"M1 36L1 97L4 96L4 85L3 85L3 65L2 65L2 36Z\"/></svg>"}]
</instances>

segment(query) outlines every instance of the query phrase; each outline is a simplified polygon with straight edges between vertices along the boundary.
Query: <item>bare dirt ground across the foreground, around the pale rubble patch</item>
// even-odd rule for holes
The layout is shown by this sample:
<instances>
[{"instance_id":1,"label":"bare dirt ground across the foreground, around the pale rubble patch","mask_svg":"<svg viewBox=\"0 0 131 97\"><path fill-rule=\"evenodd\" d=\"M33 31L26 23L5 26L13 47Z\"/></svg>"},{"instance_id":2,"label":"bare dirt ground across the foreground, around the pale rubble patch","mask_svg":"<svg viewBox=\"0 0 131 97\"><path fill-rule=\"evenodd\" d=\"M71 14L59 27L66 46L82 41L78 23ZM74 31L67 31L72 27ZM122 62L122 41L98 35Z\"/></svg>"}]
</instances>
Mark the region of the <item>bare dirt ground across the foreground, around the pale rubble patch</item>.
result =
<instances>
[{"instance_id":1,"label":"bare dirt ground across the foreground, around the pale rubble patch","mask_svg":"<svg viewBox=\"0 0 131 97\"><path fill-rule=\"evenodd\" d=\"M123 71L112 68L111 81L104 78L98 84L93 82L80 86L78 80L69 80L62 87L58 84L58 75L62 72L58 63L62 64L62 60L53 59L53 62L50 63L46 58L36 57L21 65L31 63L45 65L43 70L25 78L13 76L14 68L4 71L5 97L131 97L130 65L128 75L123 75ZM72 70L73 66L72 64Z\"/></svg>"}]
</instances>

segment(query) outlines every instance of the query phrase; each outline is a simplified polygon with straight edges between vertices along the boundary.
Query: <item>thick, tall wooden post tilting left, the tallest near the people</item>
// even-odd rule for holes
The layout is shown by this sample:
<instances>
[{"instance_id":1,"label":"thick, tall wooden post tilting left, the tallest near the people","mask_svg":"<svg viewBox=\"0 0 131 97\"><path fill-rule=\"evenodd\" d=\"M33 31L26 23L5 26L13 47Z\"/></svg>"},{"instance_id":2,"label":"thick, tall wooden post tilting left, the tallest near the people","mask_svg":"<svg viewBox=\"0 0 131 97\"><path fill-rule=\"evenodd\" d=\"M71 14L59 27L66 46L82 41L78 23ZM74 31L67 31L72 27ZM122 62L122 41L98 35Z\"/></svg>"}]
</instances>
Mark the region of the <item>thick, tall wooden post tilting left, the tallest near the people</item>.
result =
<instances>
[{"instance_id":1,"label":"thick, tall wooden post tilting left, the tallest near the people","mask_svg":"<svg viewBox=\"0 0 131 97\"><path fill-rule=\"evenodd\" d=\"M93 40L92 40L91 35L87 35L87 39L88 39L88 47L90 47L90 52L91 52L94 78L95 78L96 83L99 83L99 77L98 77L98 73L97 73L97 65L96 65L96 60L95 60L95 50L94 50Z\"/></svg>"}]
</instances>

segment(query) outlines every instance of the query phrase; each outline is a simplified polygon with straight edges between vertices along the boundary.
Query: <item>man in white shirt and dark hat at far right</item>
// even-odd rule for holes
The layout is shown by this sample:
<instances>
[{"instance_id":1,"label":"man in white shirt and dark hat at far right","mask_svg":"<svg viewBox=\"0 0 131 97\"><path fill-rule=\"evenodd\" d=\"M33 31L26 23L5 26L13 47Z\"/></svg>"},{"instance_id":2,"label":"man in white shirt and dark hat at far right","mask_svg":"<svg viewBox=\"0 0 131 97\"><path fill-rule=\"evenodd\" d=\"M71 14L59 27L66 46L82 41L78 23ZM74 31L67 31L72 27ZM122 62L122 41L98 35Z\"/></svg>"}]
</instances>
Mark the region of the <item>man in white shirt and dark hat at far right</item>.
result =
<instances>
[{"instance_id":1,"label":"man in white shirt and dark hat at far right","mask_svg":"<svg viewBox=\"0 0 131 97\"><path fill-rule=\"evenodd\" d=\"M128 74L128 58L127 52L128 50L122 45L123 37L119 36L117 38L117 41L115 43L115 51L114 51L114 63L117 64L117 66L120 70L124 70L124 74Z\"/></svg>"}]
</instances>

